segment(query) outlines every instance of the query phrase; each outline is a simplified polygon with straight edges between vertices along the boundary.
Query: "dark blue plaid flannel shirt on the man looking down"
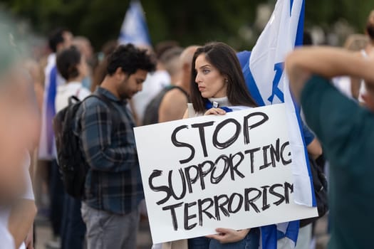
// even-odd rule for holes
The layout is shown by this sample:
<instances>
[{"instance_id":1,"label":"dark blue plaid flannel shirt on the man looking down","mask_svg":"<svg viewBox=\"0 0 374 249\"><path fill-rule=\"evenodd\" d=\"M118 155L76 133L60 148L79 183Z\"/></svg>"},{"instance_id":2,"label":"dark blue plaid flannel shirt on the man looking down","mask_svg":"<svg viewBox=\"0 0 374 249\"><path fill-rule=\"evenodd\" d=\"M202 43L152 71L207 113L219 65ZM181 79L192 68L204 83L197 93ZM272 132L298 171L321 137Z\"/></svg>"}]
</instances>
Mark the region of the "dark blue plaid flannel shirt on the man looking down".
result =
<instances>
[{"instance_id":1,"label":"dark blue plaid flannel shirt on the man looking down","mask_svg":"<svg viewBox=\"0 0 374 249\"><path fill-rule=\"evenodd\" d=\"M76 134L89 167L85 179L85 203L97 210L126 214L144 198L135 147L133 115L111 92L98 88L113 104L90 97L80 106Z\"/></svg>"}]
</instances>

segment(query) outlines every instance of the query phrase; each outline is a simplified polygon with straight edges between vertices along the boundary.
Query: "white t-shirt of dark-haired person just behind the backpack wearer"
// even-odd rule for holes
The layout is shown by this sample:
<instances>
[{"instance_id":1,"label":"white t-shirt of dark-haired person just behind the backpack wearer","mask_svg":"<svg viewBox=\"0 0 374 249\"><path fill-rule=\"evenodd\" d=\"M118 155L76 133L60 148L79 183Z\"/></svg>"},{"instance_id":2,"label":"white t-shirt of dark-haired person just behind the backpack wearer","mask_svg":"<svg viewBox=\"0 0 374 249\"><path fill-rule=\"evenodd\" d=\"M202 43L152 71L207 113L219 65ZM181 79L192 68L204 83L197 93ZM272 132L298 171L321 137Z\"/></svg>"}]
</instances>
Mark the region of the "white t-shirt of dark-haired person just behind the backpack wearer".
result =
<instances>
[{"instance_id":1,"label":"white t-shirt of dark-haired person just behind the backpack wearer","mask_svg":"<svg viewBox=\"0 0 374 249\"><path fill-rule=\"evenodd\" d=\"M79 100L83 100L90 94L91 92L87 90L87 88L83 88L82 83L79 82L58 85L55 100L56 113L68 106L69 97L74 95L78 97Z\"/></svg>"}]
</instances>

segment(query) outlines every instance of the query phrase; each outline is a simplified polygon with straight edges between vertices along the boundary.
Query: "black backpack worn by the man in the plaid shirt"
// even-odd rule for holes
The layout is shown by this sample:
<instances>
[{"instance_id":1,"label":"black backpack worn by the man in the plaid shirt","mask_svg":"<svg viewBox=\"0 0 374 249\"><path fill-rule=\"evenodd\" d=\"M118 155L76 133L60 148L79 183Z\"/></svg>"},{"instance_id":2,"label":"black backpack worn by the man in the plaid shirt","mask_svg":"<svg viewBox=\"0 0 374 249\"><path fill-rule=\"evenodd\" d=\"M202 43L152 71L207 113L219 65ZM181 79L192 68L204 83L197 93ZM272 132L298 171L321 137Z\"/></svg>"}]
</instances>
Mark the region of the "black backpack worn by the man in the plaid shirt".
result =
<instances>
[{"instance_id":1,"label":"black backpack worn by the man in the plaid shirt","mask_svg":"<svg viewBox=\"0 0 374 249\"><path fill-rule=\"evenodd\" d=\"M82 101L76 96L71 96L68 100L68 106L57 112L53 118L58 169L61 173L66 193L75 198L83 198L84 196L88 164L83 158L83 153L80 152L79 137L73 131L73 124L80 105L89 97L98 97L109 107L113 107L103 95L90 95Z\"/></svg>"}]
</instances>

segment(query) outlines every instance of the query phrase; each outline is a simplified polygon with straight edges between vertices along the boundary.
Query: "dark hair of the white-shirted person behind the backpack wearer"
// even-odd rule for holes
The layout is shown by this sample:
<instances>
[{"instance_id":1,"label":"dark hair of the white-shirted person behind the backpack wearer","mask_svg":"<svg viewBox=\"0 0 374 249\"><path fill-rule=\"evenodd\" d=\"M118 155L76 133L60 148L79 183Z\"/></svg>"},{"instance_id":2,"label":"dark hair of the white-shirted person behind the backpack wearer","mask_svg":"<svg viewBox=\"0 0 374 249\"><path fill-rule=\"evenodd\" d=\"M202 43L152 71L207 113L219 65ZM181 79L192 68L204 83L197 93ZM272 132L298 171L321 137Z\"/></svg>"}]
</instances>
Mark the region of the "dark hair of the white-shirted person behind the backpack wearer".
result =
<instances>
[{"instance_id":1,"label":"dark hair of the white-shirted person behind the backpack wearer","mask_svg":"<svg viewBox=\"0 0 374 249\"><path fill-rule=\"evenodd\" d=\"M65 80L78 77L79 70L77 66L81 59L82 55L75 46L63 49L56 57L58 73L60 73Z\"/></svg>"}]
</instances>

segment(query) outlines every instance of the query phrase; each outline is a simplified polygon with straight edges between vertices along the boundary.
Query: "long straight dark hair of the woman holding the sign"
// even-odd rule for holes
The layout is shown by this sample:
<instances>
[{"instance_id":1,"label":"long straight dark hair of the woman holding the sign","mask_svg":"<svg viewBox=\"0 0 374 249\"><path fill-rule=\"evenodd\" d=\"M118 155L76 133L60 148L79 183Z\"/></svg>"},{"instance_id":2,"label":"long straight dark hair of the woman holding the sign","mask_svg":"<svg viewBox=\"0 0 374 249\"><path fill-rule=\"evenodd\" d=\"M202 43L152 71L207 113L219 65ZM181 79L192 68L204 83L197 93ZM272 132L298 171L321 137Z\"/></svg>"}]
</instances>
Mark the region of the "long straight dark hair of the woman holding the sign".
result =
<instances>
[{"instance_id":1,"label":"long straight dark hair of the woman holding the sign","mask_svg":"<svg viewBox=\"0 0 374 249\"><path fill-rule=\"evenodd\" d=\"M228 80L227 98L232 105L244 105L256 107L249 90L246 88L244 75L241 72L241 66L234 50L225 43L212 42L207 43L201 48L197 48L192 59L191 70L191 101L196 112L205 111L206 98L202 97L197 84L195 83L197 72L195 70L195 61L201 54L205 59L219 70L221 75L225 75Z\"/></svg>"}]
</instances>

